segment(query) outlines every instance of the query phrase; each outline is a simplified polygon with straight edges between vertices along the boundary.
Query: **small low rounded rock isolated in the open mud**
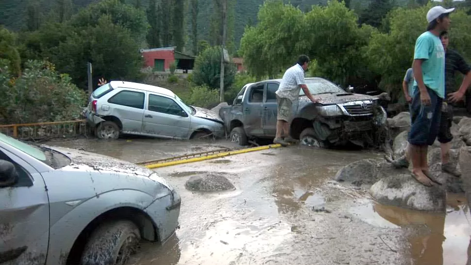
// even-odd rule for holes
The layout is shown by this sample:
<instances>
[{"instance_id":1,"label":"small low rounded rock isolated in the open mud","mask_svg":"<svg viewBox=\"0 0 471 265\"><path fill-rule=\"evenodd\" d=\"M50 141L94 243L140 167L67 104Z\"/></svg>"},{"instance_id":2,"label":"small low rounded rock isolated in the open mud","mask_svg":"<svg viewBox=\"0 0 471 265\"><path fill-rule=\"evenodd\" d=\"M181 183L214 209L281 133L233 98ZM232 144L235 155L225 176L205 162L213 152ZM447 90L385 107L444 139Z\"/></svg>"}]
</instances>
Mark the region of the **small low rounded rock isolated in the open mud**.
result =
<instances>
[{"instance_id":1,"label":"small low rounded rock isolated in the open mud","mask_svg":"<svg viewBox=\"0 0 471 265\"><path fill-rule=\"evenodd\" d=\"M213 174L192 176L186 181L185 188L193 191L235 190L234 185L226 177Z\"/></svg>"}]
</instances>

